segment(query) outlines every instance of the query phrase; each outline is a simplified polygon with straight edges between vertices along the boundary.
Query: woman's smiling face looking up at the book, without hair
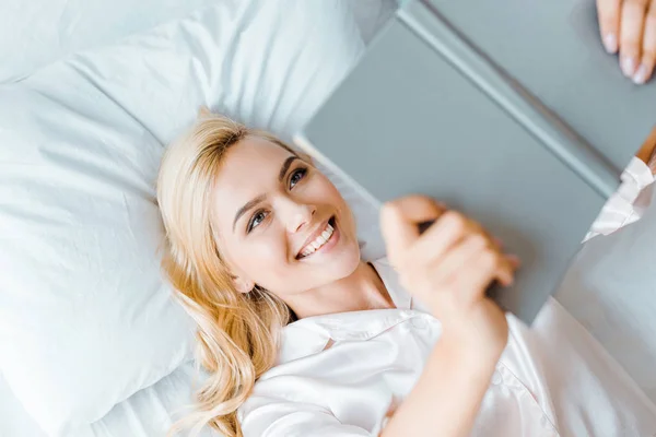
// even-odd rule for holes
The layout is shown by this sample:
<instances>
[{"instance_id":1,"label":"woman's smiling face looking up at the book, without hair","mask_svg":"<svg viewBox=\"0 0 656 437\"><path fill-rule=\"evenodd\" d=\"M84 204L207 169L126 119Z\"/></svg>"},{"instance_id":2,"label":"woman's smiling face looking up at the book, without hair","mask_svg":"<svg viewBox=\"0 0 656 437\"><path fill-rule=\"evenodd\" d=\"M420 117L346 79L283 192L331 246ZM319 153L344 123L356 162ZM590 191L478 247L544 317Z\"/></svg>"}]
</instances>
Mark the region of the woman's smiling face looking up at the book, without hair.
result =
<instances>
[{"instance_id":1,"label":"woman's smiling face looking up at the book, without hair","mask_svg":"<svg viewBox=\"0 0 656 437\"><path fill-rule=\"evenodd\" d=\"M247 137L229 150L213 200L219 250L243 292L257 284L285 300L348 276L360 262L339 191L268 140Z\"/></svg>"}]
</instances>

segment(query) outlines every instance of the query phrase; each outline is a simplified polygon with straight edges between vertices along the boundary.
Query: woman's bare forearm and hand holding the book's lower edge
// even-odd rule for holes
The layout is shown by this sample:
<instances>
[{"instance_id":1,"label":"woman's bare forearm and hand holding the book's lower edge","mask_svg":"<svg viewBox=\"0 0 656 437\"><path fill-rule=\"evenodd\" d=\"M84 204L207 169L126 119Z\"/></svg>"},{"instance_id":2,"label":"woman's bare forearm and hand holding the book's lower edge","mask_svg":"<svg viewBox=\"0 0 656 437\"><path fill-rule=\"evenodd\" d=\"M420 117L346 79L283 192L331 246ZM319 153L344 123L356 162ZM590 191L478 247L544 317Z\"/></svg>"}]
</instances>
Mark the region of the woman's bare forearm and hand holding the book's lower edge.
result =
<instances>
[{"instance_id":1,"label":"woman's bare forearm and hand holding the book's lower edge","mask_svg":"<svg viewBox=\"0 0 656 437\"><path fill-rule=\"evenodd\" d=\"M467 436L508 335L484 292L493 280L509 285L516 260L476 222L424 197L388 203L380 218L401 284L442 322L423 374L382 436ZM434 223L420 235L423 222Z\"/></svg>"}]
</instances>

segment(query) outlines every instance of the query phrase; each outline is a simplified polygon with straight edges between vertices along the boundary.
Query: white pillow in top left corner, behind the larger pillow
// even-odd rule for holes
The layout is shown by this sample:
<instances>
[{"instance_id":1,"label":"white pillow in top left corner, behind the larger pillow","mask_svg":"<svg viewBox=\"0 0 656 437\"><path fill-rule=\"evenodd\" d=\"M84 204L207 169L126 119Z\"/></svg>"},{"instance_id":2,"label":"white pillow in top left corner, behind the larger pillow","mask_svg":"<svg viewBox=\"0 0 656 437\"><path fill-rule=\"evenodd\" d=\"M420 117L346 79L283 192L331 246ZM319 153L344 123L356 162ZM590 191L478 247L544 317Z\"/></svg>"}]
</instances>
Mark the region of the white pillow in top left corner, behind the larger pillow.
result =
<instances>
[{"instance_id":1,"label":"white pillow in top left corner, behind the larger pillow","mask_svg":"<svg viewBox=\"0 0 656 437\"><path fill-rule=\"evenodd\" d=\"M0 1L0 83L81 49L114 43L215 0Z\"/></svg>"}]
</instances>

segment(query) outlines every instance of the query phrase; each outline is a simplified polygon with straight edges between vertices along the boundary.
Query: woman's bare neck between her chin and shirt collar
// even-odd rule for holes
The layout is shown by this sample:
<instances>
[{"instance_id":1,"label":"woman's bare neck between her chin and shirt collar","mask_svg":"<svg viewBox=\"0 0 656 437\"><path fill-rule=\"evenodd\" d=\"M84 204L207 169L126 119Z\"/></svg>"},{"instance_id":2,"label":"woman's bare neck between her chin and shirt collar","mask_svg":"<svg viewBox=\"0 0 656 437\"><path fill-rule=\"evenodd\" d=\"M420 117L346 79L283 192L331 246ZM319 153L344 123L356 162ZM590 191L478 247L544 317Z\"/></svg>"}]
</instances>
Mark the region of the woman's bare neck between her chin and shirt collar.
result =
<instances>
[{"instance_id":1,"label":"woman's bare neck between her chin and shirt collar","mask_svg":"<svg viewBox=\"0 0 656 437\"><path fill-rule=\"evenodd\" d=\"M286 304L300 319L395 307L376 270L363 261L360 261L355 271L349 276L293 296Z\"/></svg>"}]
</instances>

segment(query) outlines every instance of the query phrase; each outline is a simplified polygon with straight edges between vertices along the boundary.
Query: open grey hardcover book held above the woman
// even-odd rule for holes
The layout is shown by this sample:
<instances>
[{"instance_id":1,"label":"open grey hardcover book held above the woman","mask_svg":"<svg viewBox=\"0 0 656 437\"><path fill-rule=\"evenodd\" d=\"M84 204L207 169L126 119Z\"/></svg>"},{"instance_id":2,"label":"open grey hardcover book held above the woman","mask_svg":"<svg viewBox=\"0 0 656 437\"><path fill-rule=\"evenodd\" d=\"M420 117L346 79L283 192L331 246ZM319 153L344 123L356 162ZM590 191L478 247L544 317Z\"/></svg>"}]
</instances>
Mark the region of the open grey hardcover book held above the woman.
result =
<instances>
[{"instance_id":1,"label":"open grey hardcover book held above the woman","mask_svg":"<svg viewBox=\"0 0 656 437\"><path fill-rule=\"evenodd\" d=\"M295 137L378 208L425 193L522 259L500 305L530 323L656 122L589 0L411 0Z\"/></svg>"}]
</instances>

